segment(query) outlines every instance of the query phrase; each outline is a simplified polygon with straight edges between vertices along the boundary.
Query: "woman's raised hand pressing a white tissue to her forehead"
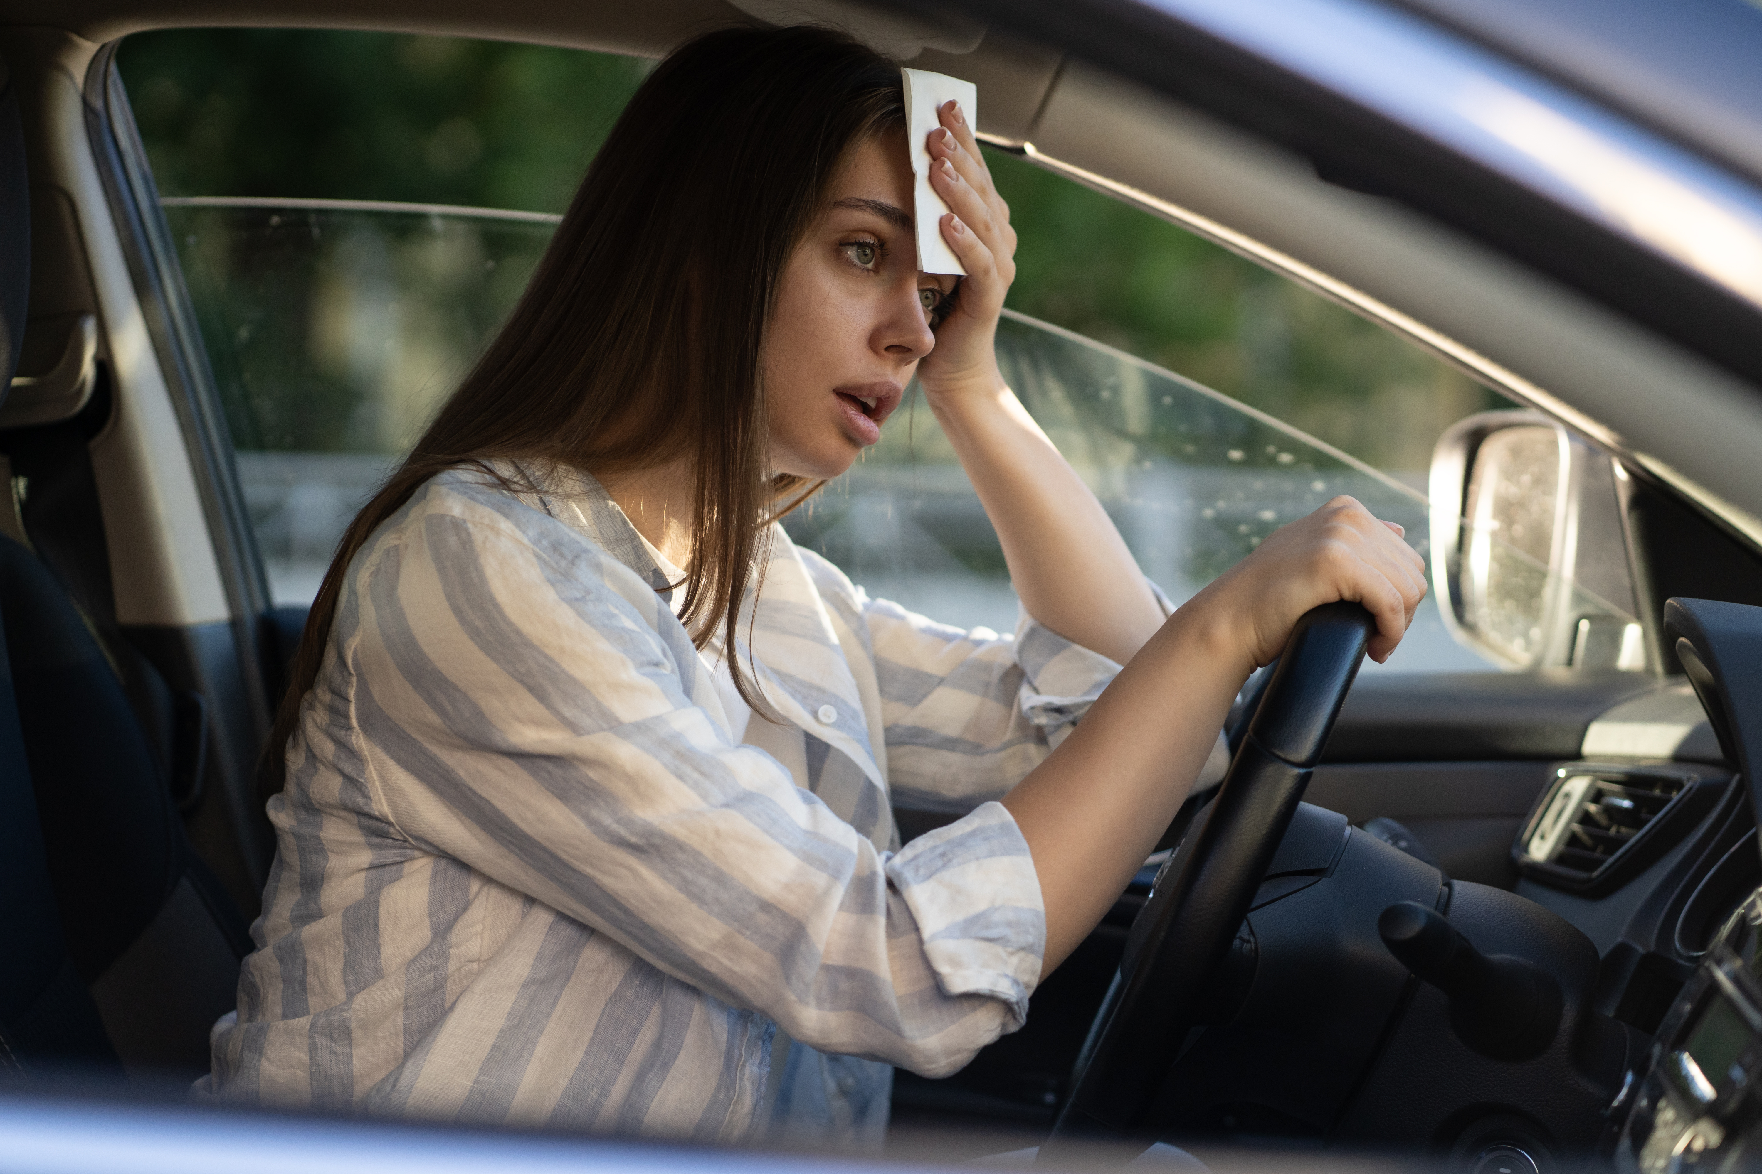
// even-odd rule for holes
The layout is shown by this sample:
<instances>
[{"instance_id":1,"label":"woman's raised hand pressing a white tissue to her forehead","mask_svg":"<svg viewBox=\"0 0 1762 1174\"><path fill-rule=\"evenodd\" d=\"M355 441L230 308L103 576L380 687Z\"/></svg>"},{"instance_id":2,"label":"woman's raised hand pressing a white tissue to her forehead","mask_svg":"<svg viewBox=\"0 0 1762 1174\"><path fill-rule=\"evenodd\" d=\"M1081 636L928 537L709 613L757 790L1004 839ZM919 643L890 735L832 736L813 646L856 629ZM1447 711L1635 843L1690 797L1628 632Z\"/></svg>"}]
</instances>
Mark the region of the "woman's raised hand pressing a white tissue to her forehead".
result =
<instances>
[{"instance_id":1,"label":"woman's raised hand pressing a white tissue to her forehead","mask_svg":"<svg viewBox=\"0 0 1762 1174\"><path fill-rule=\"evenodd\" d=\"M1010 204L997 194L978 139L957 102L937 111L943 127L929 136L930 187L951 209L943 216L943 239L966 266L953 313L936 329L936 349L918 370L932 401L964 391L994 393L997 371L997 315L1015 280L1015 229Z\"/></svg>"}]
</instances>

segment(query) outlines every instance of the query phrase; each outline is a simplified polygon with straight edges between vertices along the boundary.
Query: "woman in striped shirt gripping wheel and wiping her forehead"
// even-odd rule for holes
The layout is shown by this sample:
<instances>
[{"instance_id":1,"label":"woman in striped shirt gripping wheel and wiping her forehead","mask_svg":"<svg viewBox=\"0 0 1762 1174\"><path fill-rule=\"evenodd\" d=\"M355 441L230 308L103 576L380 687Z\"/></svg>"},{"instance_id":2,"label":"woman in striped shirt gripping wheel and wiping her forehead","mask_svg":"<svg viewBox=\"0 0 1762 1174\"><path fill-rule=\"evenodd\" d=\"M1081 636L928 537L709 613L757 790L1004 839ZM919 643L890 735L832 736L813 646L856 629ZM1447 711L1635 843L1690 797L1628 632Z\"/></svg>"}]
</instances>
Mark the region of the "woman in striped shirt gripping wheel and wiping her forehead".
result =
<instances>
[{"instance_id":1,"label":"woman in striped shirt gripping wheel and wiping her forehead","mask_svg":"<svg viewBox=\"0 0 1762 1174\"><path fill-rule=\"evenodd\" d=\"M1304 611L1401 639L1422 563L1350 498L1168 614L999 377L1015 232L941 123L959 289L914 269L895 65L724 30L645 81L314 605L218 1095L876 1141L886 1065L1022 1024ZM914 375L1013 641L870 600L774 521ZM900 794L971 813L899 847Z\"/></svg>"}]
</instances>

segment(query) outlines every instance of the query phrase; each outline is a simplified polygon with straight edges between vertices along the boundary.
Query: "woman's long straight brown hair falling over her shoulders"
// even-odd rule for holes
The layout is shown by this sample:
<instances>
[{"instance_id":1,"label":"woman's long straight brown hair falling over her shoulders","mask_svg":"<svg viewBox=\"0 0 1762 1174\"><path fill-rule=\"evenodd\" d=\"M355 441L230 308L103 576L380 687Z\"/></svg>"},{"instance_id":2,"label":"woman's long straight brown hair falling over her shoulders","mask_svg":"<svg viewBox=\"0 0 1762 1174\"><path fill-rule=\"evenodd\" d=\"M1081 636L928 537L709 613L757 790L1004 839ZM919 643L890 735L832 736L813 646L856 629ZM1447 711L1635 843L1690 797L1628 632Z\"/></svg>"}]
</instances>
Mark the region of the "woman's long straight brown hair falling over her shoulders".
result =
<instances>
[{"instance_id":1,"label":"woman's long straight brown hair falling over her shoulders","mask_svg":"<svg viewBox=\"0 0 1762 1174\"><path fill-rule=\"evenodd\" d=\"M317 679L349 563L435 473L497 459L597 473L691 456L692 565L680 620L726 632L763 528L821 482L770 477L759 385L777 280L849 151L904 128L899 67L826 28L724 28L663 60L599 150L500 333L324 574L263 757ZM766 711L735 665L740 695Z\"/></svg>"}]
</instances>

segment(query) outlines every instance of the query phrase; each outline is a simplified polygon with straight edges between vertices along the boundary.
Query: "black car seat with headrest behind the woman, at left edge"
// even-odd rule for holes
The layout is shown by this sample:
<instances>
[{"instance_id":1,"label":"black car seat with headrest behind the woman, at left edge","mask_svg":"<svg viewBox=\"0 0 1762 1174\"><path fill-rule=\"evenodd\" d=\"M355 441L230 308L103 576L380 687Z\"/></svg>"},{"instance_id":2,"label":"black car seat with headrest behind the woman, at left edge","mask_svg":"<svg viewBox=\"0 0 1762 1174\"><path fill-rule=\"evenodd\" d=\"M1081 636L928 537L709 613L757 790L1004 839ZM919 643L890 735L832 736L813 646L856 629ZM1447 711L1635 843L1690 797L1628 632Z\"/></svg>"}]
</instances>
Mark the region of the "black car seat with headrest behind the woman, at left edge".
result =
<instances>
[{"instance_id":1,"label":"black car seat with headrest behind the woman, at left edge","mask_svg":"<svg viewBox=\"0 0 1762 1174\"><path fill-rule=\"evenodd\" d=\"M26 324L28 211L18 100L0 62L0 400ZM139 657L130 664L152 672ZM12 943L0 966L0 1077L208 1070L208 1026L234 1005L248 935L185 838L116 651L11 539L0 539L0 884Z\"/></svg>"}]
</instances>

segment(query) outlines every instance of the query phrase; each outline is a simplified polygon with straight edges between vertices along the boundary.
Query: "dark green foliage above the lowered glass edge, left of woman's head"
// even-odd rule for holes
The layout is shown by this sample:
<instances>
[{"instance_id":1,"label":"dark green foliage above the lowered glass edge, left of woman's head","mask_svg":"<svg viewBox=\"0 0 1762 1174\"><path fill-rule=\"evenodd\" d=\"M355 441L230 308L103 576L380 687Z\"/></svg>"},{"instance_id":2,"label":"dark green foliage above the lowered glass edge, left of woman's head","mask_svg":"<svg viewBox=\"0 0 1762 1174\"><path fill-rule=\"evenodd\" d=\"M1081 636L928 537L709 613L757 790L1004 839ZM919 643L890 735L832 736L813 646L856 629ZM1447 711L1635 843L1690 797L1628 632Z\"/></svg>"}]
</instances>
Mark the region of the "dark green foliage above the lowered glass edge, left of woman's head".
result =
<instances>
[{"instance_id":1,"label":"dark green foliage above the lowered glass edge, left of woman's head","mask_svg":"<svg viewBox=\"0 0 1762 1174\"><path fill-rule=\"evenodd\" d=\"M118 53L160 195L562 211L648 62L453 37L196 28Z\"/></svg>"}]
</instances>

